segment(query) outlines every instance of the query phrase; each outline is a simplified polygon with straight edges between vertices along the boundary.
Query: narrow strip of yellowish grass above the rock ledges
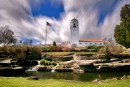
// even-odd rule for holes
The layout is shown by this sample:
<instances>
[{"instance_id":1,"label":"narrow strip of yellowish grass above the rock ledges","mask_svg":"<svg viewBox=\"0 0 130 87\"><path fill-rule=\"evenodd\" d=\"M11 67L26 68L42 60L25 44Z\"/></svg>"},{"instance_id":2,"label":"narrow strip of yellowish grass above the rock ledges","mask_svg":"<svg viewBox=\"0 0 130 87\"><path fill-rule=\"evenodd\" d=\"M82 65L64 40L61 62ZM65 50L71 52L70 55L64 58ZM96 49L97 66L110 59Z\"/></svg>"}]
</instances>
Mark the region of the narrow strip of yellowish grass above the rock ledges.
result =
<instances>
[{"instance_id":1,"label":"narrow strip of yellowish grass above the rock ledges","mask_svg":"<svg viewBox=\"0 0 130 87\"><path fill-rule=\"evenodd\" d=\"M68 54L74 54L74 53L82 53L82 54L96 54L97 52L43 52L43 54L49 54L49 55L68 55Z\"/></svg>"}]
</instances>

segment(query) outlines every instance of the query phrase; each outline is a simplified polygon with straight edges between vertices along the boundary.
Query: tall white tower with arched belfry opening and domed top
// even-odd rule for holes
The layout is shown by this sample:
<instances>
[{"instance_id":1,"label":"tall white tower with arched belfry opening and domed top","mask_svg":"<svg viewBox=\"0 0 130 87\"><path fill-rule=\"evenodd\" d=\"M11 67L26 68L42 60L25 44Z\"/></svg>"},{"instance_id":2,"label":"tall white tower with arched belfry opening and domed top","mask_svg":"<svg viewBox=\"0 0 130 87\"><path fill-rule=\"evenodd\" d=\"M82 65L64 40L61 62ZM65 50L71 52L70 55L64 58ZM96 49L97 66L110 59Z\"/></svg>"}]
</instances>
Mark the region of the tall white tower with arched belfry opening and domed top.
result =
<instances>
[{"instance_id":1,"label":"tall white tower with arched belfry opening and domed top","mask_svg":"<svg viewBox=\"0 0 130 87\"><path fill-rule=\"evenodd\" d=\"M70 21L70 46L79 46L79 25L75 18Z\"/></svg>"}]
</instances>

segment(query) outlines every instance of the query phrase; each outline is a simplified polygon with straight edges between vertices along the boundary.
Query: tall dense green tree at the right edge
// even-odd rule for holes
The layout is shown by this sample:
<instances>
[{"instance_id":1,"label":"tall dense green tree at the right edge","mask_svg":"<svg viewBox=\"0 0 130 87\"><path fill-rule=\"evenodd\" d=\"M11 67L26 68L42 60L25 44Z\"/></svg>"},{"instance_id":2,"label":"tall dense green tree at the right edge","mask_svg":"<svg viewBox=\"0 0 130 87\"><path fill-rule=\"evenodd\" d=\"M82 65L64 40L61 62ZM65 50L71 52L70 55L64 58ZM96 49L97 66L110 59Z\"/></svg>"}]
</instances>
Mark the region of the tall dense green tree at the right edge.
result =
<instances>
[{"instance_id":1,"label":"tall dense green tree at the right edge","mask_svg":"<svg viewBox=\"0 0 130 87\"><path fill-rule=\"evenodd\" d=\"M130 47L130 5L122 7L121 23L116 25L114 30L114 38L117 43L129 48Z\"/></svg>"}]
</instances>

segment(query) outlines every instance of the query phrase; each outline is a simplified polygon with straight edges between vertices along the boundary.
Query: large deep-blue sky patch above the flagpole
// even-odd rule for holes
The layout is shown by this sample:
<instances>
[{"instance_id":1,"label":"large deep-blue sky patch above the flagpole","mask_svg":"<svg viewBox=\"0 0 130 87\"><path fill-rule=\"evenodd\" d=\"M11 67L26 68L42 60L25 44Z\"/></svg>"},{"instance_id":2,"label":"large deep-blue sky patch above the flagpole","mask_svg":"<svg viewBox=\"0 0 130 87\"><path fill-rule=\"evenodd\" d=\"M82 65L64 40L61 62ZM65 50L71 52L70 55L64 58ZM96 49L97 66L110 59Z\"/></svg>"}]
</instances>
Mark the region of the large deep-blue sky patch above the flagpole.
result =
<instances>
[{"instance_id":1,"label":"large deep-blue sky patch above the flagpole","mask_svg":"<svg viewBox=\"0 0 130 87\"><path fill-rule=\"evenodd\" d=\"M39 3L38 5L39 6L37 8L33 4L31 4L32 14L34 17L43 15L43 16L47 16L51 18L54 17L56 19L59 19L61 13L64 12L64 7L62 2L56 5L55 3L52 4L51 0L45 0L45 2Z\"/></svg>"}]
</instances>

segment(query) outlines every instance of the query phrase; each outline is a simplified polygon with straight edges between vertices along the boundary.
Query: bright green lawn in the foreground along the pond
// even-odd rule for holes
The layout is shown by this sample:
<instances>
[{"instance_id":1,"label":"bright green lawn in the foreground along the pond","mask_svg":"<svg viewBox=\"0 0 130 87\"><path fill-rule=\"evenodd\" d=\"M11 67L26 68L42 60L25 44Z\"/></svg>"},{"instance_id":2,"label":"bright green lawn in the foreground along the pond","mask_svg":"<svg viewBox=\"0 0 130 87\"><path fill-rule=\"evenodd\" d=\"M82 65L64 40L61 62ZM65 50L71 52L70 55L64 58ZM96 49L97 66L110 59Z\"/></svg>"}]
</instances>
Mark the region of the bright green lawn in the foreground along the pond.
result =
<instances>
[{"instance_id":1,"label":"bright green lawn in the foreground along the pond","mask_svg":"<svg viewBox=\"0 0 130 87\"><path fill-rule=\"evenodd\" d=\"M130 87L130 79L102 83L70 80L28 80L25 77L0 77L0 87Z\"/></svg>"}]
</instances>

